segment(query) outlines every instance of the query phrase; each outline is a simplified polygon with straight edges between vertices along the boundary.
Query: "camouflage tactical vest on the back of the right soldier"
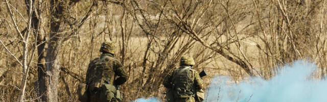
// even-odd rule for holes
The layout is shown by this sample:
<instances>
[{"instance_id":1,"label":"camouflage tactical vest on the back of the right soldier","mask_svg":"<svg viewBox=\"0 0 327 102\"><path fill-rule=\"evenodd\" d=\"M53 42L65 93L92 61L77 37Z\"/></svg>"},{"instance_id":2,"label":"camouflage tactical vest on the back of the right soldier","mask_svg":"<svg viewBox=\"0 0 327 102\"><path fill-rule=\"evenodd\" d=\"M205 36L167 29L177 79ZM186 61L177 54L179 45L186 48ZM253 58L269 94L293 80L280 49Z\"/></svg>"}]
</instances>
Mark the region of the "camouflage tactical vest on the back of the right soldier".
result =
<instances>
[{"instance_id":1,"label":"camouflage tactical vest on the back of the right soldier","mask_svg":"<svg viewBox=\"0 0 327 102\"><path fill-rule=\"evenodd\" d=\"M196 93L194 85L196 71L190 66L181 66L175 70L172 78L174 96L181 98L194 97Z\"/></svg>"}]
</instances>

